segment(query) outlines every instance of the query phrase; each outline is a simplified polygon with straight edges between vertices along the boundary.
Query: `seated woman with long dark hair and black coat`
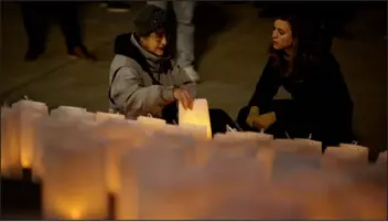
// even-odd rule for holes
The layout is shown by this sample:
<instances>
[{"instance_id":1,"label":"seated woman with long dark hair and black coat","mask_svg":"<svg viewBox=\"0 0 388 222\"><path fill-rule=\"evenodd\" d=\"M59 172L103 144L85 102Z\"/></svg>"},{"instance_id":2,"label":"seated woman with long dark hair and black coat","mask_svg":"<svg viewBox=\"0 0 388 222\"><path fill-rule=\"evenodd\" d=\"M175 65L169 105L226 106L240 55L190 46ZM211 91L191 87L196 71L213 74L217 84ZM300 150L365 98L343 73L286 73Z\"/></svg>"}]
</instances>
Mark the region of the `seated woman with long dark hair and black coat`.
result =
<instances>
[{"instance_id":1,"label":"seated woman with long dark hair and black coat","mask_svg":"<svg viewBox=\"0 0 388 222\"><path fill-rule=\"evenodd\" d=\"M352 141L353 103L331 39L319 25L284 17L274 21L269 60L237 123L276 138L308 138L323 146ZM280 86L292 96L273 97Z\"/></svg>"}]
</instances>

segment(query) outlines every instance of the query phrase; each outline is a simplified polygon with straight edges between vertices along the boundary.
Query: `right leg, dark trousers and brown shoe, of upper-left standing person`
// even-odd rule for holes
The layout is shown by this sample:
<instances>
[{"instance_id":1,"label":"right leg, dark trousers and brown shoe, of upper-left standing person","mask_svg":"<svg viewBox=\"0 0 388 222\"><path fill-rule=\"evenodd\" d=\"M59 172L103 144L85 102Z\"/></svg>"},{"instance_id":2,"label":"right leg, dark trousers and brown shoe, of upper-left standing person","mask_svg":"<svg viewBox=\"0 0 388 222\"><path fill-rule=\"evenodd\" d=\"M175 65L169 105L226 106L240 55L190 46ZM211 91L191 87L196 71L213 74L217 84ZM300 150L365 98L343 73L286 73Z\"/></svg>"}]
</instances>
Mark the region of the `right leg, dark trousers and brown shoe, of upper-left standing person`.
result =
<instances>
[{"instance_id":1,"label":"right leg, dark trousers and brown shoe, of upper-left standing person","mask_svg":"<svg viewBox=\"0 0 388 222\"><path fill-rule=\"evenodd\" d=\"M82 42L76 3L56 2L55 12L58 15L61 29L65 36L67 53L74 59L96 60L94 55L87 52Z\"/></svg>"}]
</instances>

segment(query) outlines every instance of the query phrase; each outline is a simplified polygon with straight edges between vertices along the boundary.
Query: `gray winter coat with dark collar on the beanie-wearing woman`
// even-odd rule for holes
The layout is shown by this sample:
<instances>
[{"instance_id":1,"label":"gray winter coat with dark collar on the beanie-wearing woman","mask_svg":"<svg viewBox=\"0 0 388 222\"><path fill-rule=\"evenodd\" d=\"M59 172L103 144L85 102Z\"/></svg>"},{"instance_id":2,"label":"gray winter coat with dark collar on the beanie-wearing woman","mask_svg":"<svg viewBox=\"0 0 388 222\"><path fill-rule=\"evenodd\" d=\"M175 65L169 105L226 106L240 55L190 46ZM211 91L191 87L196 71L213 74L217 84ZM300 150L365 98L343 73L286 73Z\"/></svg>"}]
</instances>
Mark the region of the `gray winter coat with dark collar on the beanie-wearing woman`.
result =
<instances>
[{"instance_id":1,"label":"gray winter coat with dark collar on the beanie-wearing woman","mask_svg":"<svg viewBox=\"0 0 388 222\"><path fill-rule=\"evenodd\" d=\"M140 46L134 34L122 34L115 42L110 65L110 110L136 118L151 114L161 117L162 108L174 101L175 87L196 97L196 84L169 57L160 57Z\"/></svg>"}]
</instances>

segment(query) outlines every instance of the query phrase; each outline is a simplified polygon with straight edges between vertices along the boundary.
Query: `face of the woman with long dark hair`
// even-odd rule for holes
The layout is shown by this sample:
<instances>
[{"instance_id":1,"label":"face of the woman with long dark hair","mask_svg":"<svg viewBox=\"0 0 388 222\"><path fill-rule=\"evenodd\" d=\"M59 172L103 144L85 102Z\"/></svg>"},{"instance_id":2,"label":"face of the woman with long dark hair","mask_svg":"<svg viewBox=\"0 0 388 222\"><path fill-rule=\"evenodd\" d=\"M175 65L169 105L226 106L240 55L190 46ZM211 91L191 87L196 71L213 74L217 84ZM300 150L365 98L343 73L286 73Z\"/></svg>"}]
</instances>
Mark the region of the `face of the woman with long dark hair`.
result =
<instances>
[{"instance_id":1,"label":"face of the woman with long dark hair","mask_svg":"<svg viewBox=\"0 0 388 222\"><path fill-rule=\"evenodd\" d=\"M276 20L272 31L272 45L276 50L288 50L292 47L293 38L291 25L288 21Z\"/></svg>"}]
</instances>

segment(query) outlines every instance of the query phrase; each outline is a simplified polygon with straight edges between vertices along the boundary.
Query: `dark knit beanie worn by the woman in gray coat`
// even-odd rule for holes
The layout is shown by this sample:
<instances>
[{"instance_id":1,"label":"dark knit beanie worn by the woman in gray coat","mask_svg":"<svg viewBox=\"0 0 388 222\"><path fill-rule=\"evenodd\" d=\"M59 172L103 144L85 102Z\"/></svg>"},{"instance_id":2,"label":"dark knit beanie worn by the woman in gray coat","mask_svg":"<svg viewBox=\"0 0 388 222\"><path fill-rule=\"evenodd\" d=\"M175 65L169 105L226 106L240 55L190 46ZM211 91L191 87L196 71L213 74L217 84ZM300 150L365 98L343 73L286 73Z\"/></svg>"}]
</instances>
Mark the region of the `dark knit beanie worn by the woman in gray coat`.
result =
<instances>
[{"instance_id":1,"label":"dark knit beanie worn by the woman in gray coat","mask_svg":"<svg viewBox=\"0 0 388 222\"><path fill-rule=\"evenodd\" d=\"M133 23L134 32L139 36L148 36L158 29L165 28L166 12L157 6L147 4L134 17Z\"/></svg>"}]
</instances>

